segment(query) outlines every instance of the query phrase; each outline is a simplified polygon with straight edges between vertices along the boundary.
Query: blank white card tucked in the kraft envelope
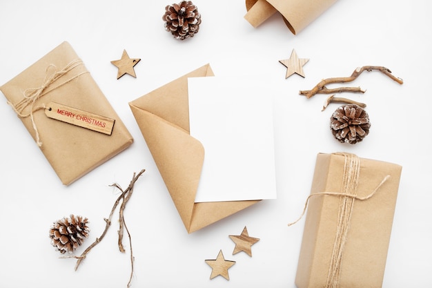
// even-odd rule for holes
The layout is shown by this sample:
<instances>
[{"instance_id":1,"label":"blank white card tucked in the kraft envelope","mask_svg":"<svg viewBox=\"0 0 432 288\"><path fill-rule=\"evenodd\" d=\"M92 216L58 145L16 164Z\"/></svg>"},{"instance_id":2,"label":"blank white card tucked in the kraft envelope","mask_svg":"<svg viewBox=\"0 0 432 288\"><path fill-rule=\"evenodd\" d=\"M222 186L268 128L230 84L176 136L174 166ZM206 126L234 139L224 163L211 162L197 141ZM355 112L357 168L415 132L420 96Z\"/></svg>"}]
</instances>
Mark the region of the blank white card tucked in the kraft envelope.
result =
<instances>
[{"instance_id":1,"label":"blank white card tucked in the kraft envelope","mask_svg":"<svg viewBox=\"0 0 432 288\"><path fill-rule=\"evenodd\" d=\"M267 81L248 80L188 79L190 135L205 149L195 202L277 196L273 93Z\"/></svg>"}]
</instances>

